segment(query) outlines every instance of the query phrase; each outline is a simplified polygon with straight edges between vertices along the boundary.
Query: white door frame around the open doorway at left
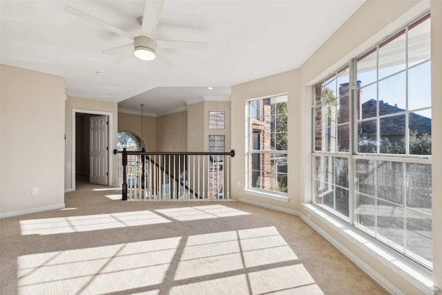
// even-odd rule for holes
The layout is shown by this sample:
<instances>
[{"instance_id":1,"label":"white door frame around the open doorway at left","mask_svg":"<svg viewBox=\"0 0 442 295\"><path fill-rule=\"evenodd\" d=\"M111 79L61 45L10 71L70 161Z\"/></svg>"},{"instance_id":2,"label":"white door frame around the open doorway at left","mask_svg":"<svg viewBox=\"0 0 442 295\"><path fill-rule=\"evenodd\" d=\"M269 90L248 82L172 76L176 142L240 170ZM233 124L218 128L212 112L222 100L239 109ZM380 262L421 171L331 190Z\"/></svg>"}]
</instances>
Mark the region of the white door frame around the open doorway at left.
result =
<instances>
[{"instance_id":1,"label":"white door frame around the open doorway at left","mask_svg":"<svg viewBox=\"0 0 442 295\"><path fill-rule=\"evenodd\" d=\"M71 158L70 158L70 177L71 177L71 187L72 190L75 191L76 188L76 184L75 184L75 137L77 135L77 130L75 128L76 126L76 114L77 113L84 113L84 114L90 114L90 115L106 115L108 116L108 146L109 146L109 150L108 150L108 185L109 186L113 186L114 183L114 175L113 175L113 149L111 148L113 146L113 113L109 113L109 112L103 112L103 111L91 111L91 110L84 110L81 108L73 108L72 109L72 131L71 131Z\"/></svg>"}]
</instances>

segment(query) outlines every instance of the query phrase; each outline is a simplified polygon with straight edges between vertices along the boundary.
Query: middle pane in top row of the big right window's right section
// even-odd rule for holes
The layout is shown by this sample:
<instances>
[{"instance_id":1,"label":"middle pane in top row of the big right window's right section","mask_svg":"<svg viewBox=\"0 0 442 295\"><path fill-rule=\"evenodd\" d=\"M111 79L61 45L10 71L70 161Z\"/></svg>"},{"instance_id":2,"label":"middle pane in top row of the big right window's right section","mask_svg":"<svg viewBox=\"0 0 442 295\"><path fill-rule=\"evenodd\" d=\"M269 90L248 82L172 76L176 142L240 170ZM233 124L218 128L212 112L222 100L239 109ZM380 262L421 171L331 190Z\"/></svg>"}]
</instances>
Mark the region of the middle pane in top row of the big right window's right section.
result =
<instances>
[{"instance_id":1,"label":"middle pane in top row of the big right window's right section","mask_svg":"<svg viewBox=\"0 0 442 295\"><path fill-rule=\"evenodd\" d=\"M405 69L405 30L379 45L378 79Z\"/></svg>"}]
</instances>

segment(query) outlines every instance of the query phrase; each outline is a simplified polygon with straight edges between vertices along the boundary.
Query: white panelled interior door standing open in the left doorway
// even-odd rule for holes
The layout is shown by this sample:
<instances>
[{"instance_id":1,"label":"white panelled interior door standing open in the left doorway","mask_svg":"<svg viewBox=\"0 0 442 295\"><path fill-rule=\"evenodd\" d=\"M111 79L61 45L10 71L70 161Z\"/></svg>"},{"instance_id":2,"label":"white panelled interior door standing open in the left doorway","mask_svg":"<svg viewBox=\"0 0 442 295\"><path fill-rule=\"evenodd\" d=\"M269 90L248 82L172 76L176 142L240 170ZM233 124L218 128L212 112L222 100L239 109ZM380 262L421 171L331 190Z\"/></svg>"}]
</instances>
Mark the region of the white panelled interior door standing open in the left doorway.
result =
<instances>
[{"instance_id":1,"label":"white panelled interior door standing open in the left doorway","mask_svg":"<svg viewBox=\"0 0 442 295\"><path fill-rule=\"evenodd\" d=\"M108 116L90 117L89 182L108 185Z\"/></svg>"}]
</instances>

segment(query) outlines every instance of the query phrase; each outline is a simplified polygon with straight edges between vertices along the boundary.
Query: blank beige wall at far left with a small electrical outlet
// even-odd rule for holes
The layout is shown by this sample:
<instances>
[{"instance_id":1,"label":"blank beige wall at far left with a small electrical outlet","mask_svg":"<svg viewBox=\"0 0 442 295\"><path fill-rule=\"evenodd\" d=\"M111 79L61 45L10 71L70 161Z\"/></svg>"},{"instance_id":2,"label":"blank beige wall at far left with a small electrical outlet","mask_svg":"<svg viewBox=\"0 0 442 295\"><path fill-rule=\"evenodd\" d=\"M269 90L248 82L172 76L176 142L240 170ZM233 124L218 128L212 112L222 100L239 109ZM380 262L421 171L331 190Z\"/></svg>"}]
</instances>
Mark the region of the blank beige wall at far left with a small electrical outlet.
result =
<instances>
[{"instance_id":1,"label":"blank beige wall at far left with a small electrical outlet","mask_svg":"<svg viewBox=\"0 0 442 295\"><path fill-rule=\"evenodd\" d=\"M64 207L64 78L0 67L0 215Z\"/></svg>"}]
</instances>

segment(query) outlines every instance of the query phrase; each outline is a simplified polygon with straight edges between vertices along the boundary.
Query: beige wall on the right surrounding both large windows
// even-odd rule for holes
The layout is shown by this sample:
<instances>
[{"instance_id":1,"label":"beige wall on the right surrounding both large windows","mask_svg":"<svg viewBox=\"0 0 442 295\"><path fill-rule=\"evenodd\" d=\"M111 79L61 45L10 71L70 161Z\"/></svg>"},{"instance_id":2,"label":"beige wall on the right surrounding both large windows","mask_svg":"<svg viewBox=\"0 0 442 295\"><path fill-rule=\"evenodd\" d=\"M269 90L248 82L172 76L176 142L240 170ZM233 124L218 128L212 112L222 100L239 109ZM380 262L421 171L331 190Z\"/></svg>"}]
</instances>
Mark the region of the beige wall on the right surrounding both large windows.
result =
<instances>
[{"instance_id":1,"label":"beige wall on the right surrounding both large windows","mask_svg":"<svg viewBox=\"0 0 442 295\"><path fill-rule=\"evenodd\" d=\"M367 1L352 18L329 38L298 70L265 77L233 86L231 98L232 149L238 157L232 162L232 196L265 207L300 212L307 220L307 210L302 202L311 201L311 86L349 59L383 37L394 32L415 17L432 8L432 151L433 151L433 253L434 285L442 287L442 1ZM376 19L376 21L374 21ZM289 102L289 202L278 202L246 194L245 180L245 128L244 106L247 99L288 93ZM236 186L240 182L240 187ZM377 278L387 278L384 287L396 288L403 294L422 294L412 280L401 272L392 272L383 260L358 245L343 234L341 229L330 226L319 216L313 216L311 224L330 240L334 240L366 271ZM414 266L416 267L416 266ZM419 267L418 267L419 268ZM421 269L421 268L419 268ZM421 269L425 273L425 269ZM390 284L390 285L389 285Z\"/></svg>"}]
</instances>

